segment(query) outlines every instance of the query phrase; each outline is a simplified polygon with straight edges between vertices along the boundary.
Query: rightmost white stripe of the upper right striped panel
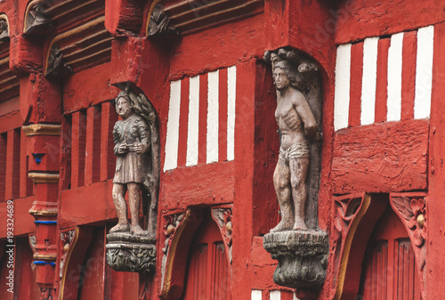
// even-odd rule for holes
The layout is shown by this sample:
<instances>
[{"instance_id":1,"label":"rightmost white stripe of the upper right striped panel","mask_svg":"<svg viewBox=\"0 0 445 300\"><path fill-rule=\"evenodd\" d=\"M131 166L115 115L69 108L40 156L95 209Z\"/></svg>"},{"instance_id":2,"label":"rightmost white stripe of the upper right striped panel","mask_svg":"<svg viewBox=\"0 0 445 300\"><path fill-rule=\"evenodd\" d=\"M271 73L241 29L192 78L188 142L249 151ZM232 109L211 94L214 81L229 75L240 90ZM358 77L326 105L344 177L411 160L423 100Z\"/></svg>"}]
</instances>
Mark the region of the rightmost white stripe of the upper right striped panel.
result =
<instances>
[{"instance_id":1,"label":"rightmost white stripe of the upper right striped panel","mask_svg":"<svg viewBox=\"0 0 445 300\"><path fill-rule=\"evenodd\" d=\"M429 118L433 83L434 27L417 31L416 97L414 118Z\"/></svg>"}]
</instances>

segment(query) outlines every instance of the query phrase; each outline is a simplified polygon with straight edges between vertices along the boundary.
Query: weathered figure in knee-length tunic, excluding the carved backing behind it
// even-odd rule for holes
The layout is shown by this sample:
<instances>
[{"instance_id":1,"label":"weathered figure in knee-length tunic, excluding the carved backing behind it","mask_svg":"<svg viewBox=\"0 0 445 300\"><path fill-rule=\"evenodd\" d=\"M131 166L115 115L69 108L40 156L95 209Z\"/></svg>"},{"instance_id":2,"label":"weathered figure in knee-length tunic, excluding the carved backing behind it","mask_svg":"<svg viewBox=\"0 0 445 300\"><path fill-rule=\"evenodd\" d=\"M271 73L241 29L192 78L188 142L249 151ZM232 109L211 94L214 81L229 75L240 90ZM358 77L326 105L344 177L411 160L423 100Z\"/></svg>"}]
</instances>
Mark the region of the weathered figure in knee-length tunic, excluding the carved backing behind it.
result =
<instances>
[{"instance_id":1,"label":"weathered figure in knee-length tunic, excluding the carved backing behind it","mask_svg":"<svg viewBox=\"0 0 445 300\"><path fill-rule=\"evenodd\" d=\"M114 153L117 156L116 173L113 179L113 201L118 223L112 232L130 231L135 235L146 234L139 225L142 182L145 180L150 150L150 130L144 119L135 113L134 103L123 91L117 95L116 111L122 120L113 128ZM125 193L128 191L128 206L132 217L128 225Z\"/></svg>"}]
</instances>

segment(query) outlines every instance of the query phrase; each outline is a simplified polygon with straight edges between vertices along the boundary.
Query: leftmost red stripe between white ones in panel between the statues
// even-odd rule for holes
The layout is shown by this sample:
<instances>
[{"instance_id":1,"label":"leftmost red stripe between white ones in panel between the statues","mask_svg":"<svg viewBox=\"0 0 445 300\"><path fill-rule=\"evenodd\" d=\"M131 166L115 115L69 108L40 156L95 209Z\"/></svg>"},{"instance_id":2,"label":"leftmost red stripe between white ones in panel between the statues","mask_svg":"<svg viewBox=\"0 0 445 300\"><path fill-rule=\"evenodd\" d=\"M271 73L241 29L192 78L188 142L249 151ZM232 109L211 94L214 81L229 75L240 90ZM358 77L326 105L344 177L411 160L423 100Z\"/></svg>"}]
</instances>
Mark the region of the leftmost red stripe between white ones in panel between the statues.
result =
<instances>
[{"instance_id":1,"label":"leftmost red stripe between white ones in panel between the statues","mask_svg":"<svg viewBox=\"0 0 445 300\"><path fill-rule=\"evenodd\" d=\"M178 166L185 166L187 160L187 133L189 124L190 78L181 81L181 107L179 117Z\"/></svg>"}]
</instances>

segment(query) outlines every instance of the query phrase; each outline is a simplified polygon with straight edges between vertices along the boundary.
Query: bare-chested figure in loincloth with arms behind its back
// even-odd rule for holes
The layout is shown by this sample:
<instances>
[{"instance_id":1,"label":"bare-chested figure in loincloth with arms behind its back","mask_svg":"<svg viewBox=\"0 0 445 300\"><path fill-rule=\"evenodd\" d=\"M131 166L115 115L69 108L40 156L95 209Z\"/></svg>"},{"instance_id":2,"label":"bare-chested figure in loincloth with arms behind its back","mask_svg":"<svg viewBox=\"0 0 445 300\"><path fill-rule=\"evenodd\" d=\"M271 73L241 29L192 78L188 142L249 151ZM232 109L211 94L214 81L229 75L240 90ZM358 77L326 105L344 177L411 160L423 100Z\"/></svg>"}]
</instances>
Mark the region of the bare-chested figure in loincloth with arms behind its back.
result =
<instances>
[{"instance_id":1,"label":"bare-chested figure in loincloth with arms behind its back","mask_svg":"<svg viewBox=\"0 0 445 300\"><path fill-rule=\"evenodd\" d=\"M281 221L273 231L304 231L305 205L308 198L305 184L310 161L309 139L316 132L316 122L298 86L297 70L289 61L272 64L277 89L275 118L281 141L279 161L273 174L273 184L279 200Z\"/></svg>"}]
</instances>

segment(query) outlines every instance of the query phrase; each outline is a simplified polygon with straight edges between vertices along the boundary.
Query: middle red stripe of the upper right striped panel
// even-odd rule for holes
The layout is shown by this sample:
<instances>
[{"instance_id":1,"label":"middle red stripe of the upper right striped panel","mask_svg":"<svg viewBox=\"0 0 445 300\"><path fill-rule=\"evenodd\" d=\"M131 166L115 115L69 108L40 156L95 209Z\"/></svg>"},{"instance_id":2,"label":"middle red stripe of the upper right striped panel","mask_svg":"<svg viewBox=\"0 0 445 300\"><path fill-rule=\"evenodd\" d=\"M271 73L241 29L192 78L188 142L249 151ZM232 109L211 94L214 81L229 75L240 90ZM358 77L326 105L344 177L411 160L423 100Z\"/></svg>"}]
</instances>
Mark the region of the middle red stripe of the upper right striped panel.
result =
<instances>
[{"instance_id":1,"label":"middle red stripe of the upper right striped panel","mask_svg":"<svg viewBox=\"0 0 445 300\"><path fill-rule=\"evenodd\" d=\"M386 121L388 109L388 49L391 45L390 38L381 38L377 45L377 79L376 79L376 116L375 122Z\"/></svg>"}]
</instances>

